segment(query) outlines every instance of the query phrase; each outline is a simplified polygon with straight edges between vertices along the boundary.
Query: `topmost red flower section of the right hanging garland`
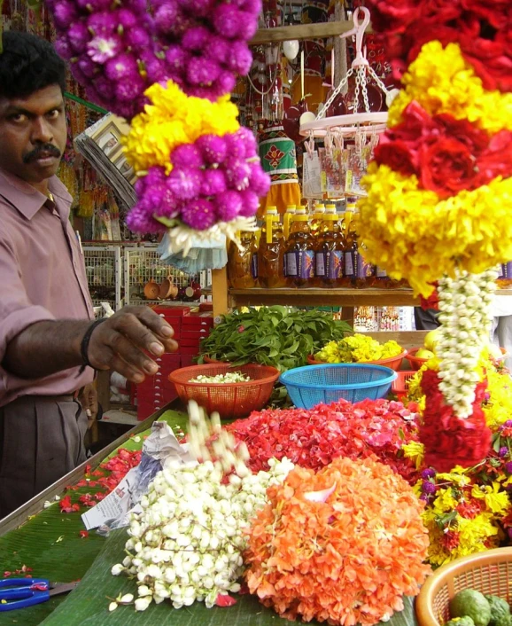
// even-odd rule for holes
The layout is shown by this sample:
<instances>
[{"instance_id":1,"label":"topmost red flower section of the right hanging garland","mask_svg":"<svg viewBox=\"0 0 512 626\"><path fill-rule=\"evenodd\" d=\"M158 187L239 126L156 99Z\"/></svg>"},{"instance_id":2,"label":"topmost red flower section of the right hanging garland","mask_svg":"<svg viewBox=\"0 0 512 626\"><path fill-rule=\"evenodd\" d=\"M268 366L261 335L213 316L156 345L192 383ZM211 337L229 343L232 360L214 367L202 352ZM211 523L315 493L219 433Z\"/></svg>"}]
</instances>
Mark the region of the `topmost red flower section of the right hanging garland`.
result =
<instances>
[{"instance_id":1,"label":"topmost red flower section of the right hanging garland","mask_svg":"<svg viewBox=\"0 0 512 626\"><path fill-rule=\"evenodd\" d=\"M512 3L510 0L368 0L395 77L418 56L424 43L459 43L486 90L512 91Z\"/></svg>"}]
</instances>

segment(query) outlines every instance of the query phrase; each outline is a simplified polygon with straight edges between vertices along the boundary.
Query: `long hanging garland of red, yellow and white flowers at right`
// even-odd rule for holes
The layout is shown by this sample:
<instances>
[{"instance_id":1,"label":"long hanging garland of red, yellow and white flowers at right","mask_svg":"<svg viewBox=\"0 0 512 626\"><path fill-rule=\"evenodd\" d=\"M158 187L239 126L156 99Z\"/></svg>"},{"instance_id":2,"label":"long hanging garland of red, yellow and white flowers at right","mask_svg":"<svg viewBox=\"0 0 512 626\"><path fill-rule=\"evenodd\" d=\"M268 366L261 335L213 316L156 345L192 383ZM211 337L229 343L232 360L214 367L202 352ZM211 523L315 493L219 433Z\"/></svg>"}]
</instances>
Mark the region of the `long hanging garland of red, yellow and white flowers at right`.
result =
<instances>
[{"instance_id":1,"label":"long hanging garland of red, yellow and white flowers at right","mask_svg":"<svg viewBox=\"0 0 512 626\"><path fill-rule=\"evenodd\" d=\"M512 4L368 6L403 90L363 181L358 232L366 261L415 293L429 298L438 283L421 438L427 463L447 471L480 462L491 441L478 362L493 268L512 256Z\"/></svg>"}]
</instances>

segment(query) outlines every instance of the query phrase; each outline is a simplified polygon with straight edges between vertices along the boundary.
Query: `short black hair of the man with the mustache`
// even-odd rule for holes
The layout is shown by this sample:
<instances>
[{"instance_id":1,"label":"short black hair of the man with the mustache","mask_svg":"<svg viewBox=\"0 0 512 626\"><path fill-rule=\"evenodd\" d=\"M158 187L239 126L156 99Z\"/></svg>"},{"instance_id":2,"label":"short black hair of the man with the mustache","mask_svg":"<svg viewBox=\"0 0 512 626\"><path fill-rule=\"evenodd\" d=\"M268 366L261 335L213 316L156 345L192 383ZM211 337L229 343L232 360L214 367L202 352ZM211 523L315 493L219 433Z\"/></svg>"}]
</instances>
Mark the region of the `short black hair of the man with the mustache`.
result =
<instances>
[{"instance_id":1,"label":"short black hair of the man with the mustache","mask_svg":"<svg viewBox=\"0 0 512 626\"><path fill-rule=\"evenodd\" d=\"M51 43L30 35L6 31L0 52L0 97L27 98L50 85L66 90L66 64Z\"/></svg>"}]
</instances>

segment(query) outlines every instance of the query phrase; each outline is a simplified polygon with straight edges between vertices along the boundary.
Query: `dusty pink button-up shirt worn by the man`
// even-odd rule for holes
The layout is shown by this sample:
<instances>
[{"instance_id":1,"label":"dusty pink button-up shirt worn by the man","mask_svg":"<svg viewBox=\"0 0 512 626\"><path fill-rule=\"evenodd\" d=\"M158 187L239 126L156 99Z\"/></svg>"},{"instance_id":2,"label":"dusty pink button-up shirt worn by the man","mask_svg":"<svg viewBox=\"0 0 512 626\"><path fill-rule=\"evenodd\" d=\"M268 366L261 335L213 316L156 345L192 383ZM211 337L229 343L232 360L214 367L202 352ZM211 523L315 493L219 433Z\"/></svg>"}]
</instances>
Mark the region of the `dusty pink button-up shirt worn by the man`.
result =
<instances>
[{"instance_id":1,"label":"dusty pink button-up shirt worn by the man","mask_svg":"<svg viewBox=\"0 0 512 626\"><path fill-rule=\"evenodd\" d=\"M9 342L27 326L53 319L92 319L83 254L69 223L72 198L57 176L52 203L17 176L0 170L0 406L21 395L67 395L93 380L88 369L40 380L2 367Z\"/></svg>"}]
</instances>

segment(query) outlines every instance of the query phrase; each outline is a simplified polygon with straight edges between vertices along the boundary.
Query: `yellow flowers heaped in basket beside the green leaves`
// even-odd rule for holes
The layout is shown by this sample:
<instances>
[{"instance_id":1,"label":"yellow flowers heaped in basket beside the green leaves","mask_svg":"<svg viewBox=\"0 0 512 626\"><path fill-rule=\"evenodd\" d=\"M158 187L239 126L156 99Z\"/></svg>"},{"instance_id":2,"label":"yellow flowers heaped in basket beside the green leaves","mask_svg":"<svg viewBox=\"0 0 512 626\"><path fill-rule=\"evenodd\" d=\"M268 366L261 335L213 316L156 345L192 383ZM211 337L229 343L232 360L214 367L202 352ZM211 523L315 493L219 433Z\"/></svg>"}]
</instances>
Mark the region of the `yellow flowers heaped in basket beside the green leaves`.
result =
<instances>
[{"instance_id":1,"label":"yellow flowers heaped in basket beside the green leaves","mask_svg":"<svg viewBox=\"0 0 512 626\"><path fill-rule=\"evenodd\" d=\"M340 341L330 341L314 358L324 363L368 363L391 358L401 352L403 348L396 341L381 344L368 335L356 333Z\"/></svg>"}]
</instances>

